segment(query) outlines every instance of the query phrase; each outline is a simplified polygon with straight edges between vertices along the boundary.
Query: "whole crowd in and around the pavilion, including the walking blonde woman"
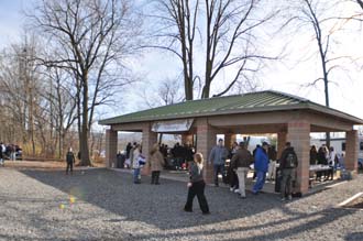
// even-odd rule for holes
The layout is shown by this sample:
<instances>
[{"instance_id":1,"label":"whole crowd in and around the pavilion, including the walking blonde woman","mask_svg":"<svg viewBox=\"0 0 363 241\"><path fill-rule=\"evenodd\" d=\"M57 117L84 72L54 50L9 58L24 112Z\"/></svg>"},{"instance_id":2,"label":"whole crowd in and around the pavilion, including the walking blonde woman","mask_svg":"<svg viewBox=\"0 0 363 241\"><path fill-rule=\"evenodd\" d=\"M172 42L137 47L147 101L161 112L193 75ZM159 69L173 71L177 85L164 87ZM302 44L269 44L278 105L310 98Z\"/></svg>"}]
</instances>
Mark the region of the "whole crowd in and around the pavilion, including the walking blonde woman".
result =
<instances>
[{"instance_id":1,"label":"whole crowd in and around the pavilion, including the walking blonde woman","mask_svg":"<svg viewBox=\"0 0 363 241\"><path fill-rule=\"evenodd\" d=\"M140 143L134 142L127 145L124 164L133 169L134 184L141 183L141 169L143 166L147 166L151 171L151 184L160 185L161 171L168 166L168 160L172 158L172 165L175 168L188 168L190 175L187 202L184 210L193 210L193 200L197 196L202 213L209 213L208 201L205 196L206 183L202 177L205 162L201 153L195 153L195 149L189 144L180 145L176 143L170 149L165 144L155 143L148 154L150 158L145 160ZM120 152L119 155L121 155ZM226 165L227 160L230 160L229 165ZM329 165L332 167L329 171L318 172L317 179L332 178L334 167L341 165L343 155L337 154L333 147L328 149L326 145L322 145L317 151L316 146L311 146L310 164ZM286 142L280 156L277 156L276 147L267 142L256 145L251 153L244 142L234 142L231 149L228 150L223 140L220 139L218 144L210 151L207 163L213 167L215 186L219 186L219 175L221 175L223 183L228 183L230 190L239 194L241 198L246 198L245 179L251 168L254 171L253 178L255 183L252 187L254 195L262 191L267 178L279 180L278 189L282 200L290 200L293 198L298 158L294 146L289 142ZM228 166L227 171L224 169L226 166ZM278 169L277 173L276 169Z\"/></svg>"}]
</instances>

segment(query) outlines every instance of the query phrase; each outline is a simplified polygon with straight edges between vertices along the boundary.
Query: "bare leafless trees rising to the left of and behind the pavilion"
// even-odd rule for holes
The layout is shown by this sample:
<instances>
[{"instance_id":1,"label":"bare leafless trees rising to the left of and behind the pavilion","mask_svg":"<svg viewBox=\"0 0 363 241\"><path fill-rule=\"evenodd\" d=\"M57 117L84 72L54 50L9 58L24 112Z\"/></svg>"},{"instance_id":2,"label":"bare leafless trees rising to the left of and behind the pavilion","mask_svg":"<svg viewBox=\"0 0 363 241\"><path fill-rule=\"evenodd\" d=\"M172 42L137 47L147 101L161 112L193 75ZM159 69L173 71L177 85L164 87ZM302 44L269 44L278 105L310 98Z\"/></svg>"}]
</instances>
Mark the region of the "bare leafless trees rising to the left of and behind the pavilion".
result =
<instances>
[{"instance_id":1,"label":"bare leafless trees rising to the left of and behind the pavilion","mask_svg":"<svg viewBox=\"0 0 363 241\"><path fill-rule=\"evenodd\" d=\"M0 141L26 156L62 158L73 146L81 165L102 150L102 106L139 80L129 59L151 48L175 55L182 74L144 91L148 107L257 89L263 67L286 57L265 52L277 34L310 33L321 75L309 85L323 83L328 107L332 73L362 66L334 52L336 34L362 31L361 0L42 0L24 17L21 41L0 54Z\"/></svg>"}]
</instances>

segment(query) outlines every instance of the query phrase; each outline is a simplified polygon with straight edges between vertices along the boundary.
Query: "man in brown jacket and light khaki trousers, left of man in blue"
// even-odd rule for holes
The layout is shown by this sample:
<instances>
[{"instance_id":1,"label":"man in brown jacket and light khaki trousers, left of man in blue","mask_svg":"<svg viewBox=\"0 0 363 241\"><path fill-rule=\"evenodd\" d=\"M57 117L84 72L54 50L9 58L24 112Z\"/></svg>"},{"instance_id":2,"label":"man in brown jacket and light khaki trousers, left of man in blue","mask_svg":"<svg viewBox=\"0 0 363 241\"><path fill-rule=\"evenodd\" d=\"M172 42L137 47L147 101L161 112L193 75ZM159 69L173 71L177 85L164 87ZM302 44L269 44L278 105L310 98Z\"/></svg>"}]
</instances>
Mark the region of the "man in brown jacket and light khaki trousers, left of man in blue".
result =
<instances>
[{"instance_id":1,"label":"man in brown jacket and light khaki trousers, left of man in blue","mask_svg":"<svg viewBox=\"0 0 363 241\"><path fill-rule=\"evenodd\" d=\"M249 173L250 164L252 163L252 155L249 150L246 150L243 142L240 142L239 150L231 160L231 167L237 169L237 175L239 177L239 193L241 198L245 198L245 177Z\"/></svg>"}]
</instances>

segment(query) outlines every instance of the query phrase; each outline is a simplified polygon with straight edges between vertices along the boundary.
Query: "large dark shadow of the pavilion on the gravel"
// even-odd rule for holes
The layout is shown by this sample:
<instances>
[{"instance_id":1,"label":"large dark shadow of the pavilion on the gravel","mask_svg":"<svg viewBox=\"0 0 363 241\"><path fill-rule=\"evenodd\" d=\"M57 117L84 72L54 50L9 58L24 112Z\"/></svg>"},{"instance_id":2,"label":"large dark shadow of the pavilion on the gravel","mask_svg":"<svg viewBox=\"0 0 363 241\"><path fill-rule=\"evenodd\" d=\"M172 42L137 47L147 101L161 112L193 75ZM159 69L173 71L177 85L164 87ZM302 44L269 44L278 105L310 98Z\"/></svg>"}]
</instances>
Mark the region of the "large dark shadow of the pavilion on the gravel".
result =
<instances>
[{"instance_id":1,"label":"large dark shadow of the pavilion on the gravel","mask_svg":"<svg viewBox=\"0 0 363 241\"><path fill-rule=\"evenodd\" d=\"M84 171L84 174L82 171L77 171L73 176L65 175L63 171L21 172L43 184L74 195L77 199L124 216L129 220L144 221L161 229L196 226L200 224L200 220L209 223L209 220L216 222L238 219L248 215L245 210L258 213L280 206L276 195L250 195L246 200L242 200L227 188L207 187L206 196L212 215L202 216L197 198L194 202L195 213L183 211L187 187L182 182L162 179L162 185L155 186L150 185L150 177L143 176L142 184L135 185L130 174L109 169L89 169ZM174 222L175 216L178 216L180 221Z\"/></svg>"}]
</instances>

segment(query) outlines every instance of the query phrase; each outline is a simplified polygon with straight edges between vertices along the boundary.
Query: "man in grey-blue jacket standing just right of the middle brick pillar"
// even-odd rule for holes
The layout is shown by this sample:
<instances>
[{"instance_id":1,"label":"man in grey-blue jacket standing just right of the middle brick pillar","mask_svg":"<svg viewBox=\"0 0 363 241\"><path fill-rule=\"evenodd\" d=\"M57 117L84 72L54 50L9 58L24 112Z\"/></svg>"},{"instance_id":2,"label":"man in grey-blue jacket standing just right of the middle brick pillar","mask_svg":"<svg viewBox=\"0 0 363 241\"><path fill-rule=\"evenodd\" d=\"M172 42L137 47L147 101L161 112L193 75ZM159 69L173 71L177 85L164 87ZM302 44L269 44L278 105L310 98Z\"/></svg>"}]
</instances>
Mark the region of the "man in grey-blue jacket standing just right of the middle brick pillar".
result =
<instances>
[{"instance_id":1,"label":"man in grey-blue jacket standing just right of the middle brick pillar","mask_svg":"<svg viewBox=\"0 0 363 241\"><path fill-rule=\"evenodd\" d=\"M218 145L216 145L209 155L209 163L213 164L213 174L215 174L215 186L218 187L218 174L222 175L223 180L224 176L224 164L228 156L228 150L223 145L223 140L218 140Z\"/></svg>"}]
</instances>

